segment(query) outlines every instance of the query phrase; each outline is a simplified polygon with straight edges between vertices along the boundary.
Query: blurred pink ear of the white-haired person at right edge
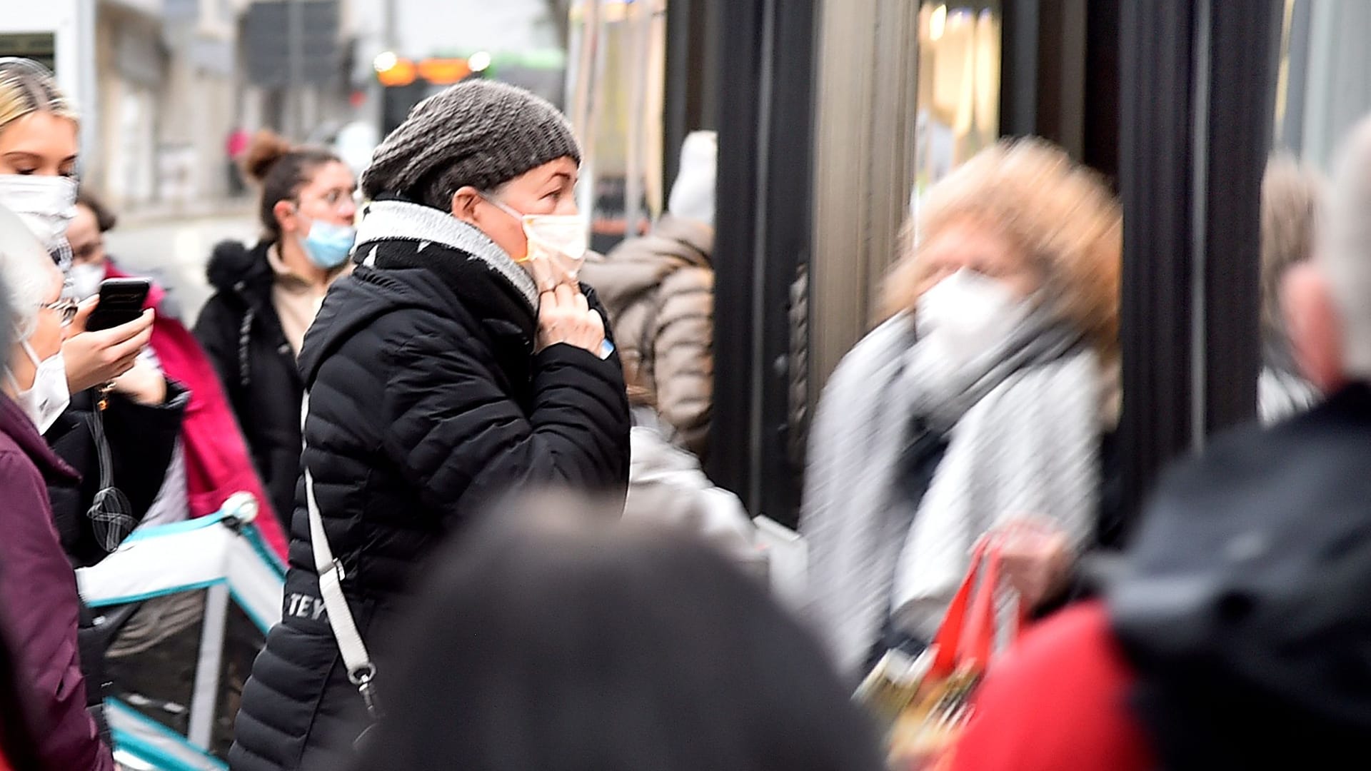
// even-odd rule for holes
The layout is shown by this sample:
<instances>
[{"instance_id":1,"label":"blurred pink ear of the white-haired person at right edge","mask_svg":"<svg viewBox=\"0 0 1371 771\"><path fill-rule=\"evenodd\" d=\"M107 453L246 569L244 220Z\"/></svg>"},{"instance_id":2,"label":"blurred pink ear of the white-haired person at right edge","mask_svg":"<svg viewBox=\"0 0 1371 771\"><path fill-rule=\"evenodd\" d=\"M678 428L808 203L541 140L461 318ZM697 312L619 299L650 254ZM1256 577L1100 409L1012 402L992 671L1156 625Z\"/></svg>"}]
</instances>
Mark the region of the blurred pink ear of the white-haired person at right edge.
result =
<instances>
[{"instance_id":1,"label":"blurred pink ear of the white-haired person at right edge","mask_svg":"<svg viewBox=\"0 0 1371 771\"><path fill-rule=\"evenodd\" d=\"M1341 388L1346 381L1342 317L1327 280L1312 261L1286 273L1281 309L1291 353L1305 379L1324 394Z\"/></svg>"}]
</instances>

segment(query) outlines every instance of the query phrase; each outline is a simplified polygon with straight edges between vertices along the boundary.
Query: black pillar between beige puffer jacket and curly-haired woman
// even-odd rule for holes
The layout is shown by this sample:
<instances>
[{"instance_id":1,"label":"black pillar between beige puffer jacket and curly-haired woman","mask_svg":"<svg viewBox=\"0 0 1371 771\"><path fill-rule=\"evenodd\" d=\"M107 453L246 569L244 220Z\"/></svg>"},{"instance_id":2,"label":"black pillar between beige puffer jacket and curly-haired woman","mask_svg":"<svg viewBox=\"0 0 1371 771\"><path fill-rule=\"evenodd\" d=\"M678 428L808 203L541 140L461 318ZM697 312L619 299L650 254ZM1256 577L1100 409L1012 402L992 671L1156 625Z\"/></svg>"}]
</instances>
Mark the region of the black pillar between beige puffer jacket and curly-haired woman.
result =
<instances>
[{"instance_id":1,"label":"black pillar between beige puffer jacket and curly-haired woman","mask_svg":"<svg viewBox=\"0 0 1371 771\"><path fill-rule=\"evenodd\" d=\"M706 471L751 514L794 524L797 276L809 259L814 0L716 0L714 413Z\"/></svg>"}]
</instances>

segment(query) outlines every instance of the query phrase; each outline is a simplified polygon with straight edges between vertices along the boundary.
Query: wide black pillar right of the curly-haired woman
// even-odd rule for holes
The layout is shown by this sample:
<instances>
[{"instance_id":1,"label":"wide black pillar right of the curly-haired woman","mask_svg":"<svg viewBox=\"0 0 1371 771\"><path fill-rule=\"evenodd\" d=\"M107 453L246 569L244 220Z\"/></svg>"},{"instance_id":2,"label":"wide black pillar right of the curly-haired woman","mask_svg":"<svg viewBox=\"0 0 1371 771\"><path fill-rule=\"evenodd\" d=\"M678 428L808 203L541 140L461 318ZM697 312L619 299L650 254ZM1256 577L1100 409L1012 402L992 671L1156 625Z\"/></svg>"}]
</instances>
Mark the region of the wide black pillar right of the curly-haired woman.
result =
<instances>
[{"instance_id":1,"label":"wide black pillar right of the curly-haired woman","mask_svg":"<svg viewBox=\"0 0 1371 771\"><path fill-rule=\"evenodd\" d=\"M1124 497L1256 412L1278 0L1120 8Z\"/></svg>"}]
</instances>

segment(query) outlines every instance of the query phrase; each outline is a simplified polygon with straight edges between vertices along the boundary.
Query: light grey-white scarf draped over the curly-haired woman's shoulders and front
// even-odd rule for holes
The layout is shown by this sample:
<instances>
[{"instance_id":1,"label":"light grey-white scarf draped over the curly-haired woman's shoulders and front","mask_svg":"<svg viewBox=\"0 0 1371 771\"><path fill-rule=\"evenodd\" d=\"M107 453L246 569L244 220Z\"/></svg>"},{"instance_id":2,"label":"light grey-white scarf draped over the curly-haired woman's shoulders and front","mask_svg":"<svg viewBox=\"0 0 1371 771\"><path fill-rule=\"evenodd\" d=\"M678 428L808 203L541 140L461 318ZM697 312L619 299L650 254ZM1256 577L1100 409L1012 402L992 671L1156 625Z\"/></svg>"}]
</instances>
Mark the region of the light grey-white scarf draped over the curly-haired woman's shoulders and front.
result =
<instances>
[{"instance_id":1,"label":"light grey-white scarf draped over the curly-haired woman's shoulders and front","mask_svg":"<svg viewBox=\"0 0 1371 771\"><path fill-rule=\"evenodd\" d=\"M893 610L934 634L987 530L1023 514L1076 543L1093 530L1102 387L1089 346L1035 313L958 377L932 377L928 355L910 314L883 324L843 358L810 431L809 610L847 672ZM919 431L949 446L916 508L899 461Z\"/></svg>"}]
</instances>

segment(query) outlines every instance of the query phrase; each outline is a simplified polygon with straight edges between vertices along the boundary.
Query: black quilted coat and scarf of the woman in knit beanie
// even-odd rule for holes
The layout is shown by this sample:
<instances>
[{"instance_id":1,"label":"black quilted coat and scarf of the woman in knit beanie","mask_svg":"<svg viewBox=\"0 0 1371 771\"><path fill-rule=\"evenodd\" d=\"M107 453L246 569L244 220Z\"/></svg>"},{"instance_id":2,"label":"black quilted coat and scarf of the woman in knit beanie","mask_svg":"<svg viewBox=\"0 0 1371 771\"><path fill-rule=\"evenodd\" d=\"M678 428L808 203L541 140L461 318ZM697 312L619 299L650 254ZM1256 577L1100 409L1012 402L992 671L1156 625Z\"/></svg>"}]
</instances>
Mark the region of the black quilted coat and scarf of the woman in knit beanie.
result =
<instances>
[{"instance_id":1,"label":"black quilted coat and scarf of the woman in knit beanie","mask_svg":"<svg viewBox=\"0 0 1371 771\"><path fill-rule=\"evenodd\" d=\"M628 484L617 357L566 344L535 354L536 295L514 287L509 269L520 269L503 251L446 214L398 206L428 222L413 236L424 240L403 226L363 240L391 232L373 204L366 262L329 292L300 357L304 461L383 701L388 635L444 535L510 490L563 484L622 501ZM343 768L366 716L324 615L303 483L282 616L243 690L229 764Z\"/></svg>"}]
</instances>

